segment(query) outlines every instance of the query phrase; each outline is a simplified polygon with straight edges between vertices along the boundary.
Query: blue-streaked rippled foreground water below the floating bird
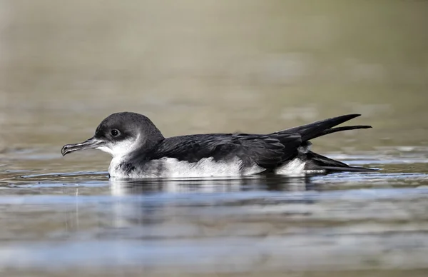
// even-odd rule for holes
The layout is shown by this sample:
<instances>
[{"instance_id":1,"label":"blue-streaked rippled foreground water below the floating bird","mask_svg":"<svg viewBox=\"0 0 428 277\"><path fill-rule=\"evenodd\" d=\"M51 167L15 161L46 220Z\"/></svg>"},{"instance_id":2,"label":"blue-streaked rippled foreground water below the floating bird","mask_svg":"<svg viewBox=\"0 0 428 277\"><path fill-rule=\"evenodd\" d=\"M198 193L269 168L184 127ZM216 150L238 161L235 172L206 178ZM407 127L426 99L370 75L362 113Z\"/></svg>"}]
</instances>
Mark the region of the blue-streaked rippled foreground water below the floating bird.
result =
<instances>
[{"instance_id":1,"label":"blue-streaked rippled foreground water below the floating bird","mask_svg":"<svg viewBox=\"0 0 428 277\"><path fill-rule=\"evenodd\" d=\"M101 275L141 266L193 273L423 267L428 189L326 187L341 178L111 179L3 196L0 267L84 265ZM399 176L386 180L394 186Z\"/></svg>"}]
</instances>

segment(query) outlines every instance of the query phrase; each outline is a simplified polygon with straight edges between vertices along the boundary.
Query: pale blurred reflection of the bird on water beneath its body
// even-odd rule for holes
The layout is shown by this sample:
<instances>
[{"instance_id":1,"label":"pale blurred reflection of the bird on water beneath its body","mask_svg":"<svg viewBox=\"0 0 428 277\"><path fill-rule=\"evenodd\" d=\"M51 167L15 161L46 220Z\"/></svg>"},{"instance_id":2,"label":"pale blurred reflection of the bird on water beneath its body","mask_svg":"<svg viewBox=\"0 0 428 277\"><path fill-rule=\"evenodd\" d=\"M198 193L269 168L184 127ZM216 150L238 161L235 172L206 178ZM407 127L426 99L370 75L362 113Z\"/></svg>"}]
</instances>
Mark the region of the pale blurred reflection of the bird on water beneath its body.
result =
<instances>
[{"instance_id":1,"label":"pale blurred reflection of the bird on water beneath its body","mask_svg":"<svg viewBox=\"0 0 428 277\"><path fill-rule=\"evenodd\" d=\"M281 196L289 191L315 189L310 178L276 176L156 180L111 178L110 183L111 195L116 199L111 206L113 226L140 226L138 236L145 238L180 234L200 236L205 223L216 216L223 218L225 213L247 213L245 206L248 201L250 205L258 205L260 199L271 193Z\"/></svg>"}]
</instances>

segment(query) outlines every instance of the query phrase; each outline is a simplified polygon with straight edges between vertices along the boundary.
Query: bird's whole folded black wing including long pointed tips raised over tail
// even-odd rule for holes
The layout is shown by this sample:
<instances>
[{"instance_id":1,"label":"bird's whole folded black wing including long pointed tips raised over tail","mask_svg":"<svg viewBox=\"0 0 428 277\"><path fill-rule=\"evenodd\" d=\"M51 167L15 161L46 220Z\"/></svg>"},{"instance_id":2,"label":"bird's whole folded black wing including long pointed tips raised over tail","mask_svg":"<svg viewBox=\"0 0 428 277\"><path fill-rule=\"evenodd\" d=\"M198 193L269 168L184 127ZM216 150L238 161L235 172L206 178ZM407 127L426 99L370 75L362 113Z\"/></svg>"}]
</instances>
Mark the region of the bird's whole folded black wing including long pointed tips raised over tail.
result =
<instances>
[{"instance_id":1,"label":"bird's whole folded black wing including long pointed tips raised over tail","mask_svg":"<svg viewBox=\"0 0 428 277\"><path fill-rule=\"evenodd\" d=\"M179 161L197 162L201 158L212 157L215 161L220 161L238 157L243 161L244 166L256 163L258 166L271 169L299 156L301 150L304 151L303 154L306 154L307 149L305 150L305 147L308 146L307 141L311 139L337 131L370 128L370 126L332 128L357 116L360 115L337 116L267 135L201 134L175 136L163 140L156 150L152 151L149 158L169 157L177 158ZM300 146L302 148L299 148ZM344 163L339 163L337 162L336 166L344 166Z\"/></svg>"}]
</instances>

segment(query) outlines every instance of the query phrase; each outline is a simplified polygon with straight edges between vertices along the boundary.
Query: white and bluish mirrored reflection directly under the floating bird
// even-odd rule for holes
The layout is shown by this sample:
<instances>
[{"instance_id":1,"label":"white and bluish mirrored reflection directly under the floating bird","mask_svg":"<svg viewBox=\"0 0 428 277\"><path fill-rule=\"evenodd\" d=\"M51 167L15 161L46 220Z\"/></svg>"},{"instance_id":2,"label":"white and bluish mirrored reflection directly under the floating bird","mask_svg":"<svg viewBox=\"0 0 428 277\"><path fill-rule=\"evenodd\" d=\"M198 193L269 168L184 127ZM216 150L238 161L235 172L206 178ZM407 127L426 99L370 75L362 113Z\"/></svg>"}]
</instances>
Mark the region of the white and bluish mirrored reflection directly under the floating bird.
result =
<instances>
[{"instance_id":1,"label":"white and bluish mirrored reflection directly under the floating bird","mask_svg":"<svg viewBox=\"0 0 428 277\"><path fill-rule=\"evenodd\" d=\"M260 191L305 191L313 188L310 178L264 175L220 179L124 180L111 178L110 183L112 196L131 196L115 198L116 201L112 206L115 226L132 226L138 222L144 224L146 229L149 228L148 224L161 224L170 221L170 218L176 220L178 208L192 210L183 212L191 215L194 213L194 209L203 206L221 206L225 203L228 206L243 205L245 200L244 203L241 203L240 198L243 196L246 198L252 191L255 193L253 196L258 196ZM157 226L157 228L166 229L162 226ZM174 229L176 231L176 226Z\"/></svg>"}]
</instances>

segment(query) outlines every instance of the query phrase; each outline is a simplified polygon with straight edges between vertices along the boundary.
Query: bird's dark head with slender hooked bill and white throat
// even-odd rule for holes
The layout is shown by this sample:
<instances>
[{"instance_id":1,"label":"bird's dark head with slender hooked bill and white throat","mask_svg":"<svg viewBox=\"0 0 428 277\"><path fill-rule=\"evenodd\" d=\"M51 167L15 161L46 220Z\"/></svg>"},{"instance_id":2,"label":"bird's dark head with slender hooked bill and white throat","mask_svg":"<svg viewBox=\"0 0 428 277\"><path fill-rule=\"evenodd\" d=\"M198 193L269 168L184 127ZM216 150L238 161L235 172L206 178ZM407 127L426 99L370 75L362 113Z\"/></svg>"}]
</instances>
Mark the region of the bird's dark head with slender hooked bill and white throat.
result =
<instances>
[{"instance_id":1,"label":"bird's dark head with slender hooked bill and white throat","mask_svg":"<svg viewBox=\"0 0 428 277\"><path fill-rule=\"evenodd\" d=\"M161 140L161 131L147 116L122 112L111 114L101 121L91 139L67 144L61 149L61 153L65 156L78 150L98 148L113 157L125 156L136 148L151 148Z\"/></svg>"}]
</instances>

